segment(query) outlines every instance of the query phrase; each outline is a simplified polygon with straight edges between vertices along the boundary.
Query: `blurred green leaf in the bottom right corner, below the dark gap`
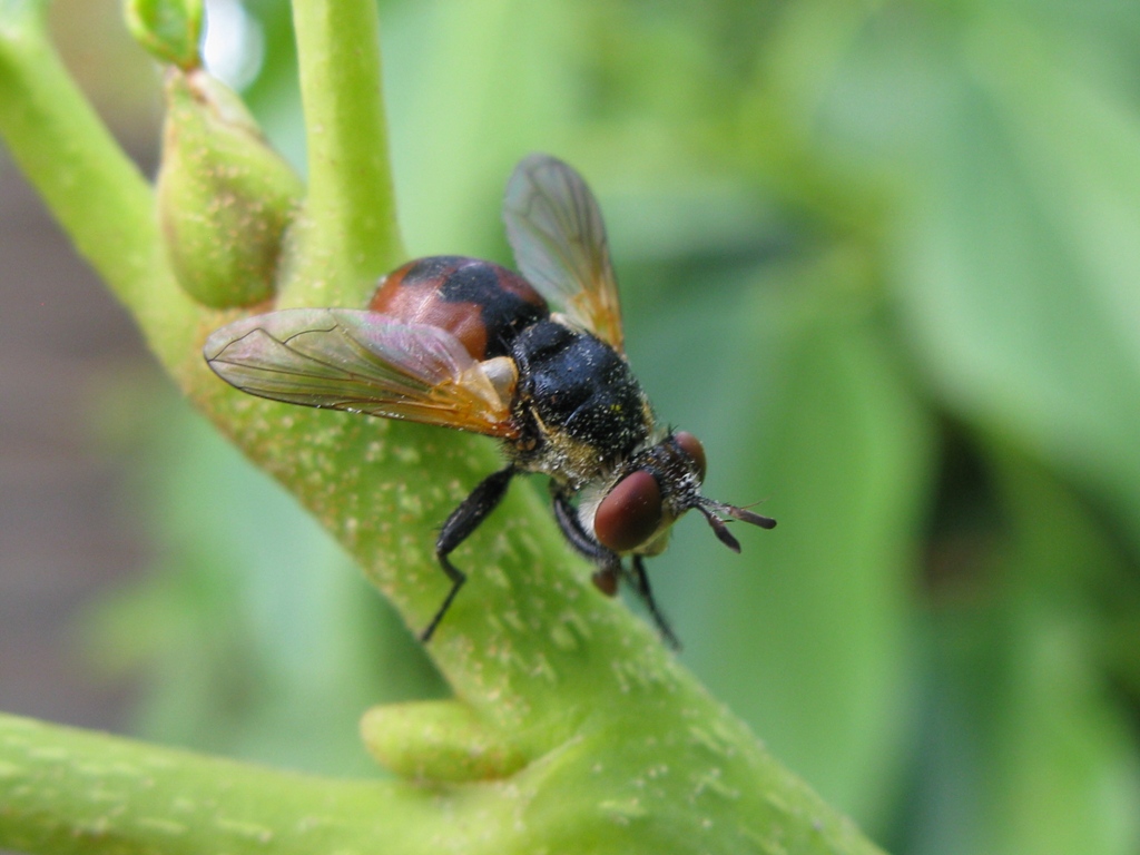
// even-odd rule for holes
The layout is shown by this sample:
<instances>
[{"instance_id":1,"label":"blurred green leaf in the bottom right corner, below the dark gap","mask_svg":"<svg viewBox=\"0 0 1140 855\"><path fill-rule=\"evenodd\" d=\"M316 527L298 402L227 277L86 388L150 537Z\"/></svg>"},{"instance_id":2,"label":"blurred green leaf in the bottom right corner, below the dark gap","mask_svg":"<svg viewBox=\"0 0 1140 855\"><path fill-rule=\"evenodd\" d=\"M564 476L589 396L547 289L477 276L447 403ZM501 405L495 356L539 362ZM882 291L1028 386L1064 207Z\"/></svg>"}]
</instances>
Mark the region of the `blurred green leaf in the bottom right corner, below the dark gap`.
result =
<instances>
[{"instance_id":1,"label":"blurred green leaf in the bottom right corner, below the dark gap","mask_svg":"<svg viewBox=\"0 0 1140 855\"><path fill-rule=\"evenodd\" d=\"M1134 852L1140 754L1101 676L1089 584L1118 572L1119 556L1052 477L991 450L1010 526L986 571L993 585L937 616L938 748L912 805L913 850Z\"/></svg>"}]
</instances>

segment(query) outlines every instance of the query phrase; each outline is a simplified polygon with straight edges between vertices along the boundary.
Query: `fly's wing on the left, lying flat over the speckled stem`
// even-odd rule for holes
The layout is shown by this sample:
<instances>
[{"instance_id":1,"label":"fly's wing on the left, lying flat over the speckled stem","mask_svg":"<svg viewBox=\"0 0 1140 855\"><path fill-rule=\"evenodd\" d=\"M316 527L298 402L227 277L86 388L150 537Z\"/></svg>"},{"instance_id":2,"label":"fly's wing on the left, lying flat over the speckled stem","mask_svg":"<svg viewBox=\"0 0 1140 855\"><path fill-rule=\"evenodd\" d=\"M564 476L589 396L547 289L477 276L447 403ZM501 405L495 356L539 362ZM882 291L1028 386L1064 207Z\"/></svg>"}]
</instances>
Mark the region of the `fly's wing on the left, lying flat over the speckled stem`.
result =
<instances>
[{"instance_id":1,"label":"fly's wing on the left, lying flat over the speckled stem","mask_svg":"<svg viewBox=\"0 0 1140 855\"><path fill-rule=\"evenodd\" d=\"M213 333L203 353L243 392L512 438L515 376L496 382L454 335L352 309L283 309ZM494 361L494 360L492 360Z\"/></svg>"}]
</instances>

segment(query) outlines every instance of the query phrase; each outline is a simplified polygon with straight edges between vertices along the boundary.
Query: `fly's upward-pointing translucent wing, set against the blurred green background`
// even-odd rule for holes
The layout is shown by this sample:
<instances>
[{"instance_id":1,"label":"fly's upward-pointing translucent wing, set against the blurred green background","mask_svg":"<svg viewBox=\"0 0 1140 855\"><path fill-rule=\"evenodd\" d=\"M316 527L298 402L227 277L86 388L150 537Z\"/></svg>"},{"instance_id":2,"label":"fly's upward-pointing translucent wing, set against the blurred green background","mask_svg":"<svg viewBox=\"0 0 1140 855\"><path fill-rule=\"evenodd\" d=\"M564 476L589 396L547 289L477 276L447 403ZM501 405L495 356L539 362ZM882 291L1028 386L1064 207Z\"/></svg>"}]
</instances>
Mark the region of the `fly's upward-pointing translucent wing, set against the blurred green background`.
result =
<instances>
[{"instance_id":1,"label":"fly's upward-pointing translucent wing, set against the blurred green background","mask_svg":"<svg viewBox=\"0 0 1140 855\"><path fill-rule=\"evenodd\" d=\"M555 157L530 155L507 181L503 219L515 262L530 284L622 352L621 306L605 225L583 177Z\"/></svg>"}]
</instances>

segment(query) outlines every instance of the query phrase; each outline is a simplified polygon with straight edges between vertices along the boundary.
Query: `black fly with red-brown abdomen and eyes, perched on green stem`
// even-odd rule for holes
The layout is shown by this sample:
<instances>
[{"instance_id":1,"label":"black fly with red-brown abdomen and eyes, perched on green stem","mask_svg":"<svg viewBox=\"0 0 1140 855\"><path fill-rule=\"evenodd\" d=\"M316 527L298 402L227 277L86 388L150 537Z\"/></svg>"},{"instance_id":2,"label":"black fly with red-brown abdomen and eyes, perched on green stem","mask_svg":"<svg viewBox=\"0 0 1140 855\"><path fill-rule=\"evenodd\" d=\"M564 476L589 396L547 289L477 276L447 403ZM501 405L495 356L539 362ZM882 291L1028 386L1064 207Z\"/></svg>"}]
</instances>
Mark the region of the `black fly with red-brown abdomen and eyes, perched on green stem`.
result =
<instances>
[{"instance_id":1,"label":"black fly with red-brown abdomen and eyes, perched on green stem","mask_svg":"<svg viewBox=\"0 0 1140 855\"><path fill-rule=\"evenodd\" d=\"M206 341L206 361L250 394L500 440L506 466L435 540L451 588L423 641L466 581L451 552L515 474L537 472L549 477L567 540L596 565L597 588L612 596L625 579L676 646L644 559L665 549L689 510L736 552L726 521L775 520L702 496L701 443L658 423L626 361L605 228L581 176L527 157L507 182L504 219L521 276L477 259L418 259L385 276L366 309L283 309L230 324Z\"/></svg>"}]
</instances>

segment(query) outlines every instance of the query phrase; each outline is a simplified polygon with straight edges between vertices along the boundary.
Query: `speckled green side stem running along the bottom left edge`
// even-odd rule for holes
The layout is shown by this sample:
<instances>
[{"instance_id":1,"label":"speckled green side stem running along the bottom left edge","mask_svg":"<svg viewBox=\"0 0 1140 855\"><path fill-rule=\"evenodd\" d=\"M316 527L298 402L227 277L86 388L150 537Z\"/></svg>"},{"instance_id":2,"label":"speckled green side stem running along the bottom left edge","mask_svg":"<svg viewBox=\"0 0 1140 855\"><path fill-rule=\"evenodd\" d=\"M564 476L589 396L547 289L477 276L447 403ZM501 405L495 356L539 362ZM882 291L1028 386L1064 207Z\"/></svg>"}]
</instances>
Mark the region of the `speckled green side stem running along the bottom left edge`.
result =
<instances>
[{"instance_id":1,"label":"speckled green side stem running along the bottom left edge","mask_svg":"<svg viewBox=\"0 0 1140 855\"><path fill-rule=\"evenodd\" d=\"M55 855L384 852L424 793L203 757L0 715L0 846ZM383 817L383 819L380 819ZM430 826L430 823L426 824Z\"/></svg>"}]
</instances>

